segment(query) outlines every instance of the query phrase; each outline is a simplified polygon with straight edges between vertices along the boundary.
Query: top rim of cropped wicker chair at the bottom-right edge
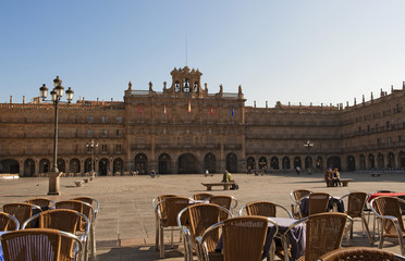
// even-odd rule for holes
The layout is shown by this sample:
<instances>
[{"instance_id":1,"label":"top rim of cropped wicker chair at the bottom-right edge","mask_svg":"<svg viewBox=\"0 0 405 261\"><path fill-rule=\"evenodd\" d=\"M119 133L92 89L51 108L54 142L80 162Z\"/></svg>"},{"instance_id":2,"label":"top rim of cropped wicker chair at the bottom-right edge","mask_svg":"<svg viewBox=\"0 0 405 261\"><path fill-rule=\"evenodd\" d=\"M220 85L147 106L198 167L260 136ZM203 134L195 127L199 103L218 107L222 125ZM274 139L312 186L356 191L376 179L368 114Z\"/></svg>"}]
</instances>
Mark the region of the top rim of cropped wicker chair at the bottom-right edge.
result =
<instances>
[{"instance_id":1,"label":"top rim of cropped wicker chair at the bottom-right edge","mask_svg":"<svg viewBox=\"0 0 405 261\"><path fill-rule=\"evenodd\" d=\"M401 261L405 257L381 249L368 247L340 248L330 251L319 259L320 261Z\"/></svg>"}]
</instances>

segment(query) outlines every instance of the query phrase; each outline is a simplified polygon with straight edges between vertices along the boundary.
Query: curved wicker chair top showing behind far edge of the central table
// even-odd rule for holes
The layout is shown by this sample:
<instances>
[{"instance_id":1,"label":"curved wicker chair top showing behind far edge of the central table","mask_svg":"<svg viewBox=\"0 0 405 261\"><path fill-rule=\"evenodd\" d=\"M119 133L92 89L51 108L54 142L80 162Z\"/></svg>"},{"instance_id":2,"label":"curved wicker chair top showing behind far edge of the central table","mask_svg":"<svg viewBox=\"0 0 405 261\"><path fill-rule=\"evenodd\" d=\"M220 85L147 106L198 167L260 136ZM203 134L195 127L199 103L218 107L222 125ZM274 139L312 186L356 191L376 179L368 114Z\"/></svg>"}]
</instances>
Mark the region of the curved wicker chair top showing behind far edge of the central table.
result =
<instances>
[{"instance_id":1,"label":"curved wicker chair top showing behind far edge of the central table","mask_svg":"<svg viewBox=\"0 0 405 261\"><path fill-rule=\"evenodd\" d=\"M242 216L242 213L245 210L247 215L262 215L262 216L267 216L267 217L275 217L275 216L278 216L277 209L283 210L285 213L287 213L290 219L293 219L292 214L290 213L290 211L286 208L284 208L281 204L273 203L273 202L270 202L270 201L248 202L241 208L240 216Z\"/></svg>"}]
</instances>

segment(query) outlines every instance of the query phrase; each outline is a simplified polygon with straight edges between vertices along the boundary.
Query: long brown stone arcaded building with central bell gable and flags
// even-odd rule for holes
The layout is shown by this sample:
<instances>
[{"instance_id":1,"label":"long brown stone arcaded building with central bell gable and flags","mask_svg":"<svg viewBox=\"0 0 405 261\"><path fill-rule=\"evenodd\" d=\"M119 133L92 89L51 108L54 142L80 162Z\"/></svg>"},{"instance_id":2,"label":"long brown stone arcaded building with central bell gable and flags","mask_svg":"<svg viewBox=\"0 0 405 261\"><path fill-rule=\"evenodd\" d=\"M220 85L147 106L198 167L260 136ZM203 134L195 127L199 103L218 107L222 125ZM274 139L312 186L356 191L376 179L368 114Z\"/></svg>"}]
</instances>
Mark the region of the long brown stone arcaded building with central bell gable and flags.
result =
<instances>
[{"instance_id":1,"label":"long brown stone arcaded building with central bell gable and flags","mask_svg":"<svg viewBox=\"0 0 405 261\"><path fill-rule=\"evenodd\" d=\"M246 171L405 172L405 85L354 105L246 107L237 92L208 91L201 73L171 72L162 91L133 89L123 101L60 104L58 167L99 175L138 171L193 174ZM0 104L0 173L36 176L50 171L53 105ZM95 140L95 151L86 146Z\"/></svg>"}]
</instances>

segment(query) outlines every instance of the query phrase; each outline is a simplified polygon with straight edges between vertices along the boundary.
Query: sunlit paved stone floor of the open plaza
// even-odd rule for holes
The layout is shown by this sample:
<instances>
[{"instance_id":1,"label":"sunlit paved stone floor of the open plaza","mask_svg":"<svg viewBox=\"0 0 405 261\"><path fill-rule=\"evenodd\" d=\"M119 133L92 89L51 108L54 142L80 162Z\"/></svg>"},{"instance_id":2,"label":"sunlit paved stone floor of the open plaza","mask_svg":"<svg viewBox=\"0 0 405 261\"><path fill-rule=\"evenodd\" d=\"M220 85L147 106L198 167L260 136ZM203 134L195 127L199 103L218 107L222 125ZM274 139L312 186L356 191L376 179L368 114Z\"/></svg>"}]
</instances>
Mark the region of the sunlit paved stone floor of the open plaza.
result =
<instances>
[{"instance_id":1,"label":"sunlit paved stone floor of the open plaza","mask_svg":"<svg viewBox=\"0 0 405 261\"><path fill-rule=\"evenodd\" d=\"M323 173L307 175L303 173L273 173L263 176L253 174L233 174L238 183L238 190L222 190L218 187L214 195L230 195L238 200L236 210L246 202L268 200L291 207L290 192L305 188L312 191L326 191L333 196L343 196L349 191L394 190L404 191L405 174L381 174L373 177L366 173L341 173L341 178L352 178L348 187L329 187L323 181ZM97 254L90 260L160 260L155 251L155 213L151 200L161 194L175 194L189 197L195 192L206 191L204 182L220 182L221 174L205 177L193 175L149 176L112 176L96 177L95 181L75 187L74 181L79 177L62 177L61 195L47 196L48 178L0 179L0 206L8 202L21 202L33 197L48 197L52 200L65 200L75 196L88 196L99 200L100 212L97 216L96 239ZM370 229L372 229L372 222ZM169 233L168 233L169 235ZM169 243L169 237L165 243ZM174 237L179 240L179 236ZM347 246L346 241L343 241ZM355 222L352 246L370 246L363 235L360 222ZM371 247L377 248L378 243ZM401 253L396 240L384 241L384 249ZM167 245L164 260L184 260L183 246Z\"/></svg>"}]
</instances>

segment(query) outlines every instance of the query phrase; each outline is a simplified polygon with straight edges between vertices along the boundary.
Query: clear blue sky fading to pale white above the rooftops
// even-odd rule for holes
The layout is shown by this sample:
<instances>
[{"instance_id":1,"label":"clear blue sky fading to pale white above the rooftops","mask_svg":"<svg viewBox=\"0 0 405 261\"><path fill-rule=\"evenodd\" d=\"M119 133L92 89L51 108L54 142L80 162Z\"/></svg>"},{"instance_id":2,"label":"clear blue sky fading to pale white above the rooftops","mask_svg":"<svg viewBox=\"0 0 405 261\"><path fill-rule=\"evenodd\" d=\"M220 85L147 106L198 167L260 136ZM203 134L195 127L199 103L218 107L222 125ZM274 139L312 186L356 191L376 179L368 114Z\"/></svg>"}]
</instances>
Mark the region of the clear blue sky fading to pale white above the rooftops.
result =
<instances>
[{"instance_id":1,"label":"clear blue sky fading to pale white above the rooftops","mask_svg":"<svg viewBox=\"0 0 405 261\"><path fill-rule=\"evenodd\" d=\"M246 105L349 105L401 89L403 0L20 0L0 2L0 103L29 102L58 75L74 100L162 91L198 69Z\"/></svg>"}]
</instances>

